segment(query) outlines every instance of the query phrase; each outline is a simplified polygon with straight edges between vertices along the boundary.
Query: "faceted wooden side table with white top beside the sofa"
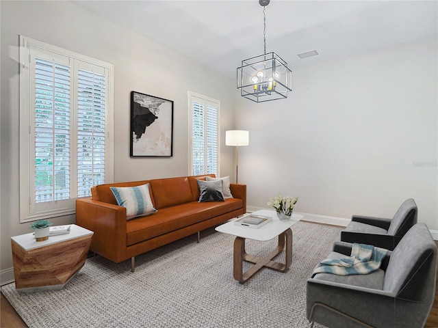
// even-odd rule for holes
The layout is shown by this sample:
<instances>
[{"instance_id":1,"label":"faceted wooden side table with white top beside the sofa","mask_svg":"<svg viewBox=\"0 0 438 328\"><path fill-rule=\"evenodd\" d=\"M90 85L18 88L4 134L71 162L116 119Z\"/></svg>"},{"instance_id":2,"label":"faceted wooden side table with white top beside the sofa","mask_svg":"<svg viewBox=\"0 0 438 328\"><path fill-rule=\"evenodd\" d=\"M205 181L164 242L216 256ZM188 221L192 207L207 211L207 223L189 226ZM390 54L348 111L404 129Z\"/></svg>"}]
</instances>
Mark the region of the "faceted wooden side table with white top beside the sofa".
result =
<instances>
[{"instance_id":1,"label":"faceted wooden side table with white top beside the sofa","mask_svg":"<svg viewBox=\"0 0 438 328\"><path fill-rule=\"evenodd\" d=\"M37 242L33 233L11 237L15 288L59 290L83 267L93 232L70 225L69 234Z\"/></svg>"}]
</instances>

